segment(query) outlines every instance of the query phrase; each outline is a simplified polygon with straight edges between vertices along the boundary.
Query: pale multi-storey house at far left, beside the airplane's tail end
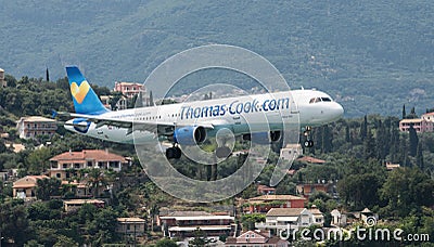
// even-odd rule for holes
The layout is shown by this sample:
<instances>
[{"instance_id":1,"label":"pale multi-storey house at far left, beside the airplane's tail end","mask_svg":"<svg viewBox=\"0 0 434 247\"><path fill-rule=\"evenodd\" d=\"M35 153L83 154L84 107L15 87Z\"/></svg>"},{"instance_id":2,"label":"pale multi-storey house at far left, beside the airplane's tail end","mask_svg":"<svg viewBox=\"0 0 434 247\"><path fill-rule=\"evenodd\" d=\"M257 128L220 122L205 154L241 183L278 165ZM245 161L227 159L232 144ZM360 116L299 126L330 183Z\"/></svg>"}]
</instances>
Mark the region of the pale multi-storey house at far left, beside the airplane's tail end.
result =
<instances>
[{"instance_id":1,"label":"pale multi-storey house at far left, beside the airplane's tail end","mask_svg":"<svg viewBox=\"0 0 434 247\"><path fill-rule=\"evenodd\" d=\"M22 139L35 139L37 135L52 136L58 130L58 125L54 119L33 116L22 117L17 123L16 129Z\"/></svg>"}]
</instances>

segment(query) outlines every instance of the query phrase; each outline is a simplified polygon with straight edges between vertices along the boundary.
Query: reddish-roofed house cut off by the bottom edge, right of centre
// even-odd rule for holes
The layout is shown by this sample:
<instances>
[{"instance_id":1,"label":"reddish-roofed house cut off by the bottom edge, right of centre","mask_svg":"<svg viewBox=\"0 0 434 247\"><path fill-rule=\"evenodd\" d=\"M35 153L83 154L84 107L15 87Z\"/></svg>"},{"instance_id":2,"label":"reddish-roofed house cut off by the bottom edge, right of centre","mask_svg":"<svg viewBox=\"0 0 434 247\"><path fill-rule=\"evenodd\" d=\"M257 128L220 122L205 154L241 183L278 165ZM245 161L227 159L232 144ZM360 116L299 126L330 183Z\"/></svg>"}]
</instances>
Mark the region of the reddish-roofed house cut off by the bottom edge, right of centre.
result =
<instances>
[{"instance_id":1,"label":"reddish-roofed house cut off by the bottom edge, right of centre","mask_svg":"<svg viewBox=\"0 0 434 247\"><path fill-rule=\"evenodd\" d=\"M238 237L228 237L225 246L228 247L288 247L288 242L278 236L271 236L267 231L247 231Z\"/></svg>"}]
</instances>

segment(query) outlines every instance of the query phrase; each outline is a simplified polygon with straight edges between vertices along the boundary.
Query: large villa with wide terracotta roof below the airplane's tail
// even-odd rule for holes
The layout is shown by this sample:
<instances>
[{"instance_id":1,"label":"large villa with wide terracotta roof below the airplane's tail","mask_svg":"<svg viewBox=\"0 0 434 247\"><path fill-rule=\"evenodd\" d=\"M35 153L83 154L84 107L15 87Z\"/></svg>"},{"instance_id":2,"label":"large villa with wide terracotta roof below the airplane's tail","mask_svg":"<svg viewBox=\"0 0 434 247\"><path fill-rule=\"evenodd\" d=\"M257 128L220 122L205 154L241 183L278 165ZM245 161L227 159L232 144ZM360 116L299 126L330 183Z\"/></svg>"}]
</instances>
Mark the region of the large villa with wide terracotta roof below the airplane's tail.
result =
<instances>
[{"instance_id":1,"label":"large villa with wide terracotta roof below the airplane's tail","mask_svg":"<svg viewBox=\"0 0 434 247\"><path fill-rule=\"evenodd\" d=\"M108 151L82 150L80 152L65 152L50 159L51 166L48 171L52 178L66 180L78 176L78 170L86 168L112 169L120 171L128 160Z\"/></svg>"}]
</instances>

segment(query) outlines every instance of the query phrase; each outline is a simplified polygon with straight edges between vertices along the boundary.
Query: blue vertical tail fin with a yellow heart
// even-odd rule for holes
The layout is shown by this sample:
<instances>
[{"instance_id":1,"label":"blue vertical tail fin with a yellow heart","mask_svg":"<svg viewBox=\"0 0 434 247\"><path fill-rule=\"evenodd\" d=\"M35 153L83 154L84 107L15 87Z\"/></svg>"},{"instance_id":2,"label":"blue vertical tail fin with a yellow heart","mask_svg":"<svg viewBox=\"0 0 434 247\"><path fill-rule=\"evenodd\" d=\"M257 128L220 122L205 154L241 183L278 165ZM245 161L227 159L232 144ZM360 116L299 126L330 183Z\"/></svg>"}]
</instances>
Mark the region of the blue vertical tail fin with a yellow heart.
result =
<instances>
[{"instance_id":1,"label":"blue vertical tail fin with a yellow heart","mask_svg":"<svg viewBox=\"0 0 434 247\"><path fill-rule=\"evenodd\" d=\"M73 95L74 108L78 114L99 115L108 112L94 93L89 82L82 76L78 67L67 66L66 74Z\"/></svg>"}]
</instances>

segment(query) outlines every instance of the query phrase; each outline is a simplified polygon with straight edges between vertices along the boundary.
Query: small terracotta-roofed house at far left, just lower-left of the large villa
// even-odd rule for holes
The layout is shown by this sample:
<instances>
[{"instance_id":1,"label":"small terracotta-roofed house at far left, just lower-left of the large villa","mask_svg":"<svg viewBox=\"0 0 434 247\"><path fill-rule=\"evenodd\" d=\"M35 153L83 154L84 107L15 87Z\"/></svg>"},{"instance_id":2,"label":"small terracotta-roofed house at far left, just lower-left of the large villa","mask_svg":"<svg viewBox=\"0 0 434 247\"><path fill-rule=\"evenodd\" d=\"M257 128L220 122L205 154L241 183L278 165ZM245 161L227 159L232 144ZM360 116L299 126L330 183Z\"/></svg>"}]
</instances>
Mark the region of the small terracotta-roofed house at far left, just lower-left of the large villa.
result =
<instances>
[{"instance_id":1,"label":"small terracotta-roofed house at far left, just lower-left of the large villa","mask_svg":"<svg viewBox=\"0 0 434 247\"><path fill-rule=\"evenodd\" d=\"M26 176L16 180L12 185L12 195L14 198L36 199L36 187L38 180L49 179L47 176Z\"/></svg>"}]
</instances>

